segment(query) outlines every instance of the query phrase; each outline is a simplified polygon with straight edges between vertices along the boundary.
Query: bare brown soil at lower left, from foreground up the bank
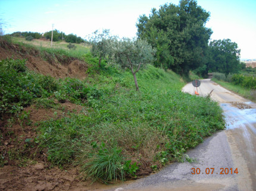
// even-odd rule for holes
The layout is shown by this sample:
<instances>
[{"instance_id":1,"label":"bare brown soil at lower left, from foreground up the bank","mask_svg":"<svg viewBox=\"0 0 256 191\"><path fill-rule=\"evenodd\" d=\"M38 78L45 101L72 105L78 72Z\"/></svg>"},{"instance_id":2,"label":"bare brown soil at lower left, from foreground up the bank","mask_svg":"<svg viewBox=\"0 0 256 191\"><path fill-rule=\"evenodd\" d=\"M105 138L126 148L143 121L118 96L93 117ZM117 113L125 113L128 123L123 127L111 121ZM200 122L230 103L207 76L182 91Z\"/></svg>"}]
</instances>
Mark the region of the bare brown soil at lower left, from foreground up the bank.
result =
<instances>
[{"instance_id":1,"label":"bare brown soil at lower left, from foreground up the bank","mask_svg":"<svg viewBox=\"0 0 256 191\"><path fill-rule=\"evenodd\" d=\"M59 109L45 109L29 106L24 109L29 113L30 125L21 126L17 120L11 126L7 125L7 120L1 123L0 150L4 153L5 164L0 168L0 190L87 190L99 189L104 186L101 183L90 184L90 181L82 180L79 177L77 168L52 167L47 161L46 151L35 152L38 145L33 148L25 148L26 139L34 139L37 136L36 122L51 118L60 118L67 112L80 113L84 109L82 106L66 102L60 103ZM54 112L57 111L57 115ZM8 117L7 117L8 119ZM21 157L27 157L26 161L19 161L11 158L8 152L15 154L21 152ZM32 154L36 155L32 156Z\"/></svg>"}]
</instances>

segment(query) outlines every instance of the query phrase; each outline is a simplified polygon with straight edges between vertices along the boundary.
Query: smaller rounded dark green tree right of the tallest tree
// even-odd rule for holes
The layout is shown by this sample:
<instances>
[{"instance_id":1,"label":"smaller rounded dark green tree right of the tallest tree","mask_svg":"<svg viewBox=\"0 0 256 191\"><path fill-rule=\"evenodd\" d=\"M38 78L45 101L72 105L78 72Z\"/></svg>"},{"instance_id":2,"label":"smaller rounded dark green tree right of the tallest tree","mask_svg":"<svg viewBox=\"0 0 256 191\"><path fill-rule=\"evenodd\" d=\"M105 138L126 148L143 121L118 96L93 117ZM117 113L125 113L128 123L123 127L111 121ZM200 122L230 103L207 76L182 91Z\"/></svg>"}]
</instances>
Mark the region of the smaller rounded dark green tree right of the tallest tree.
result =
<instances>
[{"instance_id":1,"label":"smaller rounded dark green tree right of the tallest tree","mask_svg":"<svg viewBox=\"0 0 256 191\"><path fill-rule=\"evenodd\" d=\"M213 40L209 45L210 53L207 68L211 72L224 74L238 72L242 68L239 61L238 44L230 39Z\"/></svg>"}]
</instances>

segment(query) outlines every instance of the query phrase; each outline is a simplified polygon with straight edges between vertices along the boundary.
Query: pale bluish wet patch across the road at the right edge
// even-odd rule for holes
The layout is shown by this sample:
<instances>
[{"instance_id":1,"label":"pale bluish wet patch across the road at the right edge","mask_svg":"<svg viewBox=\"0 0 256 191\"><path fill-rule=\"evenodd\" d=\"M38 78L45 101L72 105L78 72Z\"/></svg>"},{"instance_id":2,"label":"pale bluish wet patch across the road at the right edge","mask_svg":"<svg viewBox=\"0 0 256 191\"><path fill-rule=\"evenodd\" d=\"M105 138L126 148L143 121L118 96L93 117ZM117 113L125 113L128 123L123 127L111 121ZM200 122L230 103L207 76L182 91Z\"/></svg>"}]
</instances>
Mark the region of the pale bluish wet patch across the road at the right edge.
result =
<instances>
[{"instance_id":1,"label":"pale bluish wet patch across the road at the right edge","mask_svg":"<svg viewBox=\"0 0 256 191\"><path fill-rule=\"evenodd\" d=\"M249 103L221 103L224 111L226 128L239 128L241 125L256 123L256 109L252 109Z\"/></svg>"}]
</instances>

